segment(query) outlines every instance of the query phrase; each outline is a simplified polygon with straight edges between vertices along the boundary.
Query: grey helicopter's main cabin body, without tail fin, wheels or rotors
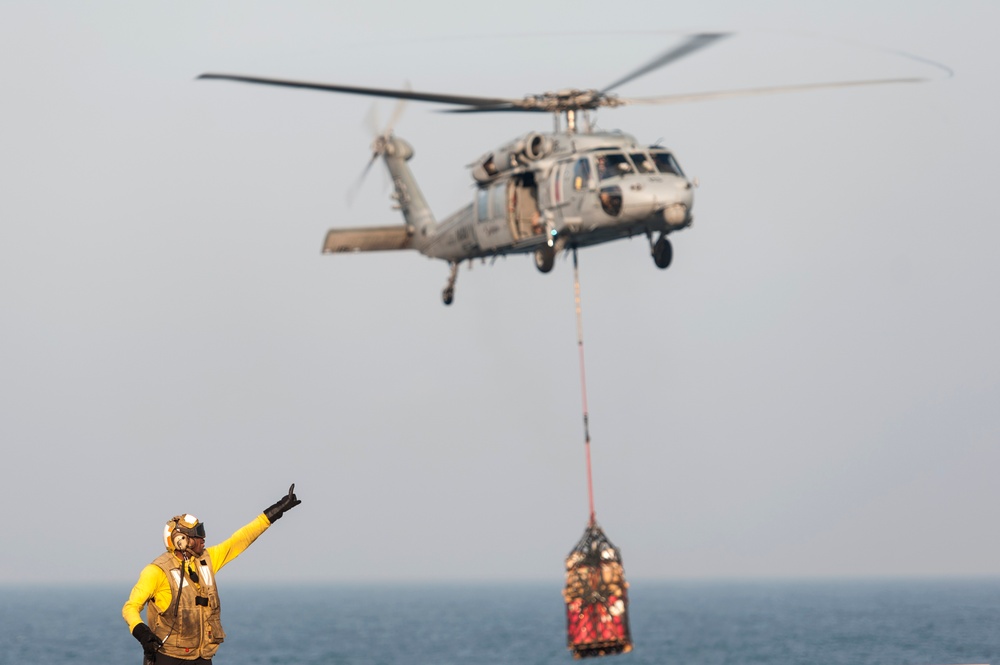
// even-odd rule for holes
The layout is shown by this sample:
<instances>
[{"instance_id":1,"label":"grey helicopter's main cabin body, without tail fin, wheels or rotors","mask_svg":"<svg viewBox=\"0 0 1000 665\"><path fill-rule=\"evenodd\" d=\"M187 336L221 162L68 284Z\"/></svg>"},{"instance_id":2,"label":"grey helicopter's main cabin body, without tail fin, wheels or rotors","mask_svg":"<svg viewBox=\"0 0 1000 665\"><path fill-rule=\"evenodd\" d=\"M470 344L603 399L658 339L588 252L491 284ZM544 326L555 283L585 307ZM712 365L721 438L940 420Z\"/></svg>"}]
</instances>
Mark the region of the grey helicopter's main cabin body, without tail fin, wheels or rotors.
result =
<instances>
[{"instance_id":1,"label":"grey helicopter's main cabin body, without tail fin, wheels or rotors","mask_svg":"<svg viewBox=\"0 0 1000 665\"><path fill-rule=\"evenodd\" d=\"M529 134L484 155L472 171L473 203L426 244L416 239L423 253L461 261L584 247L692 221L692 185L673 155L627 134Z\"/></svg>"}]
</instances>

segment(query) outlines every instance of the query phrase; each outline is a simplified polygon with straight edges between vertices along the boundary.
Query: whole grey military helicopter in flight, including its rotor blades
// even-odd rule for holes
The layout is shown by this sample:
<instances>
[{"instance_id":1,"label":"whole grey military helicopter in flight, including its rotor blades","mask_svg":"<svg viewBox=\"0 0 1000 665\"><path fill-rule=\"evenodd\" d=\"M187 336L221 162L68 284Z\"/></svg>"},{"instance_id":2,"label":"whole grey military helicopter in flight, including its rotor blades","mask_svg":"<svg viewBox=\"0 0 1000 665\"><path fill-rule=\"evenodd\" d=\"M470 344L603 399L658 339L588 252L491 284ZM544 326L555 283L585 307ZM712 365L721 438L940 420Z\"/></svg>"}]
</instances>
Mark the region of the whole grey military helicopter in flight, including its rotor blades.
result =
<instances>
[{"instance_id":1,"label":"whole grey military helicopter in flight, including its rotor blades","mask_svg":"<svg viewBox=\"0 0 1000 665\"><path fill-rule=\"evenodd\" d=\"M671 233L694 221L694 189L673 152L659 144L643 145L621 131L597 131L591 113L628 104L671 104L726 97L839 88L885 83L914 83L924 78L870 79L718 92L623 98L612 92L640 76L703 49L731 33L687 36L611 84L597 89L563 89L523 98L481 97L369 88L236 74L201 74L199 79L305 88L455 106L451 113L550 113L552 132L532 131L484 153L468 168L473 200L437 221L407 162L413 147L392 131L392 121L377 133L363 174L379 158L392 178L394 207L404 223L331 229L323 253L412 249L443 259L450 268L441 298L450 305L463 261L508 254L531 254L535 267L548 273L559 252L621 238L645 236L657 268L673 258ZM398 109L399 107L397 107ZM398 112L396 114L398 116ZM655 237L655 239L654 239Z\"/></svg>"}]
</instances>

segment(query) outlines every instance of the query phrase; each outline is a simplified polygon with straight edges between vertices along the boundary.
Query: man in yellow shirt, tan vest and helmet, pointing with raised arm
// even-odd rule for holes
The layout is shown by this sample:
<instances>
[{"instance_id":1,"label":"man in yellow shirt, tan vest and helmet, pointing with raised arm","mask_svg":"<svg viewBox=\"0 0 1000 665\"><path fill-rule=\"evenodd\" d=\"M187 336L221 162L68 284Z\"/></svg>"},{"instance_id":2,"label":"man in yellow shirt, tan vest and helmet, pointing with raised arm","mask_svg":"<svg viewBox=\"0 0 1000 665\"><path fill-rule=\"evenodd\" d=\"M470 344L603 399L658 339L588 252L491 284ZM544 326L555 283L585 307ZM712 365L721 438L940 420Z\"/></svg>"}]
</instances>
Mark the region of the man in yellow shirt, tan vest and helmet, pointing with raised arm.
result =
<instances>
[{"instance_id":1,"label":"man in yellow shirt, tan vest and helmet, pointing with raised arm","mask_svg":"<svg viewBox=\"0 0 1000 665\"><path fill-rule=\"evenodd\" d=\"M216 572L300 503L293 483L277 503L212 547L205 547L205 524L194 515L178 515L167 522L163 529L167 551L142 569L122 607L129 631L142 645L143 663L211 665L226 637L219 620Z\"/></svg>"}]
</instances>

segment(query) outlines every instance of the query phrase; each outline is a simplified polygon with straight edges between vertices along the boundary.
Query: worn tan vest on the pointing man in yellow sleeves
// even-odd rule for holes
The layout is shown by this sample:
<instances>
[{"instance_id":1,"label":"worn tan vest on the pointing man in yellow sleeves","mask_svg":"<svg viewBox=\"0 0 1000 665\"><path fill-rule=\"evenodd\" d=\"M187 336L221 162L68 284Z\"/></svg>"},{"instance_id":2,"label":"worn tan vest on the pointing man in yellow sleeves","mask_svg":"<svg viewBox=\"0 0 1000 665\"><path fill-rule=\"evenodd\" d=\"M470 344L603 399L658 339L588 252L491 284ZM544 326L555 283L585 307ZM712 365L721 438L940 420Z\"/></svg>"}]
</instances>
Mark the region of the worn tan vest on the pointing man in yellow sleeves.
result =
<instances>
[{"instance_id":1,"label":"worn tan vest on the pointing man in yellow sleeves","mask_svg":"<svg viewBox=\"0 0 1000 665\"><path fill-rule=\"evenodd\" d=\"M163 640L160 653L183 660L211 658L226 637L219 620L219 591L212 558L206 551L184 564L195 570L197 582L190 574L181 575L181 562L173 552L161 554L153 565L159 566L170 582L171 601L166 611L160 612L152 599L146 605L149 627Z\"/></svg>"}]
</instances>

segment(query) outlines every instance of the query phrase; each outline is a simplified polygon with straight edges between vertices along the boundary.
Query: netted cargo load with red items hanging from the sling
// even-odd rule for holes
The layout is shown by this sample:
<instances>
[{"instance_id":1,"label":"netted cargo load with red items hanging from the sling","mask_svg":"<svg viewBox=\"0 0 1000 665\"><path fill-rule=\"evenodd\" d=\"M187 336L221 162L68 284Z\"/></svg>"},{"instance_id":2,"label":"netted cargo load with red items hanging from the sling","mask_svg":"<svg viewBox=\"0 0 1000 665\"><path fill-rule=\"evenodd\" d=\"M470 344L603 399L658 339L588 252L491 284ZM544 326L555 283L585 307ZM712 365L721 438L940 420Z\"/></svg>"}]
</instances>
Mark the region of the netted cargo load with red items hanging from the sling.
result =
<instances>
[{"instance_id":1,"label":"netted cargo load with red items hanging from the sling","mask_svg":"<svg viewBox=\"0 0 1000 665\"><path fill-rule=\"evenodd\" d=\"M574 658L632 650L621 553L596 522L566 557L566 646Z\"/></svg>"}]
</instances>

